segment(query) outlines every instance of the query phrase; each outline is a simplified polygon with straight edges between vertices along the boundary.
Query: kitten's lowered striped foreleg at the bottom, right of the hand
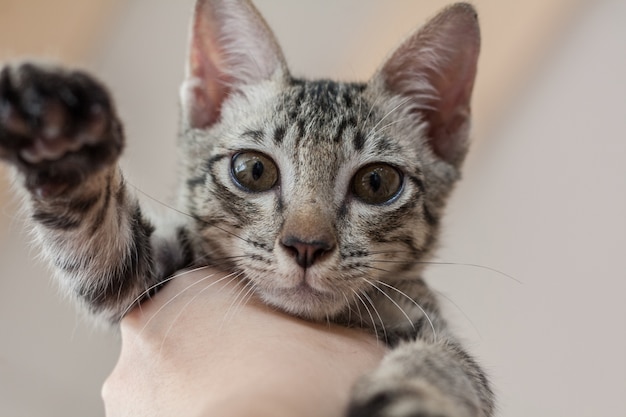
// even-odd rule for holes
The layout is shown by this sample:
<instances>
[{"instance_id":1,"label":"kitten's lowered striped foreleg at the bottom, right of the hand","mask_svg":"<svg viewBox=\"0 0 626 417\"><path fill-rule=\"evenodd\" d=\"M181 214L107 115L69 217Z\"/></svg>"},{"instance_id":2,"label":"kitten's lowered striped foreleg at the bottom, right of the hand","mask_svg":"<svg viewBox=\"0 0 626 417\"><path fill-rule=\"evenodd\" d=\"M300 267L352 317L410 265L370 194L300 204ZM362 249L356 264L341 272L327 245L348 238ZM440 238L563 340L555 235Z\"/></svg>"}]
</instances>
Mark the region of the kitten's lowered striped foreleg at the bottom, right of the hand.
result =
<instances>
[{"instance_id":1,"label":"kitten's lowered striped foreleg at the bottom, right of the hand","mask_svg":"<svg viewBox=\"0 0 626 417\"><path fill-rule=\"evenodd\" d=\"M494 396L486 375L444 332L437 341L418 337L394 347L378 368L354 387L347 414L491 417L493 413Z\"/></svg>"}]
</instances>

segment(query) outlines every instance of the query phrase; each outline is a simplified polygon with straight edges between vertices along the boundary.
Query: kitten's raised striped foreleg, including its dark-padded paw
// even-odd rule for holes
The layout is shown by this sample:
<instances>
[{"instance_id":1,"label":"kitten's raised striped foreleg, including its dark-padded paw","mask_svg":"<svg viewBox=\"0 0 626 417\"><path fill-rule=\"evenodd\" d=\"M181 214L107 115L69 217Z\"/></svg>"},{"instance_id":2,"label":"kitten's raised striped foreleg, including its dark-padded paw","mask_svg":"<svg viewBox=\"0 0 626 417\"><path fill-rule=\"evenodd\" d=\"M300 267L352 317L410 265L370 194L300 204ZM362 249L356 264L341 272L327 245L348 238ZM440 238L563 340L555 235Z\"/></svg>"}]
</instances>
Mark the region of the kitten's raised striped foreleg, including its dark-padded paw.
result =
<instances>
[{"instance_id":1,"label":"kitten's raised striped foreleg, including its dark-padded paw","mask_svg":"<svg viewBox=\"0 0 626 417\"><path fill-rule=\"evenodd\" d=\"M123 145L109 94L90 76L32 64L1 70L0 158L26 190L35 236L62 286L108 321L185 255L174 234L155 237L125 186Z\"/></svg>"}]
</instances>

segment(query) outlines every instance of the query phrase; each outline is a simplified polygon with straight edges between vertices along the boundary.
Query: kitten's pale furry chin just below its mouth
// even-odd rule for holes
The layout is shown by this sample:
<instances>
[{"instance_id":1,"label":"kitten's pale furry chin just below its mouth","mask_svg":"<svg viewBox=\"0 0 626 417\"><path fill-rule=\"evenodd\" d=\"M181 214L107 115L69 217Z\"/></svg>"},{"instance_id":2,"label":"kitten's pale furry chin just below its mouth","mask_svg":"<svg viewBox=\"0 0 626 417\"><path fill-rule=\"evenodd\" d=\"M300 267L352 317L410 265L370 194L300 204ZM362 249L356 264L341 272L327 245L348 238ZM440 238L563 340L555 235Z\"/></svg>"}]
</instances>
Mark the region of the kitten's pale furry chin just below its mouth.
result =
<instances>
[{"instance_id":1,"label":"kitten's pale furry chin just below its mouth","mask_svg":"<svg viewBox=\"0 0 626 417\"><path fill-rule=\"evenodd\" d=\"M307 283L291 288L275 288L259 296L279 310L313 321L327 321L345 307L345 301L341 302L335 294L316 290Z\"/></svg>"}]
</instances>

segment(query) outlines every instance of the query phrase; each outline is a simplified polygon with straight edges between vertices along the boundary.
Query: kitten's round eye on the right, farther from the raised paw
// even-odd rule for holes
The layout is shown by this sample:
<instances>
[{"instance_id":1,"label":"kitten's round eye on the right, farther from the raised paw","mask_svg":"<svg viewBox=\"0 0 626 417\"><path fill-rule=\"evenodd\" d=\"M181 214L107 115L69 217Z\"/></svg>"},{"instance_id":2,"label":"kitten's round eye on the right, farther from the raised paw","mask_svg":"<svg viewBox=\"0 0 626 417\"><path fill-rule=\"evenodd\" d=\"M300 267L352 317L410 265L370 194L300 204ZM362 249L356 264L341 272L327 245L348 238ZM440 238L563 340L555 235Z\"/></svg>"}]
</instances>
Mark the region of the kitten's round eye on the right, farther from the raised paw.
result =
<instances>
[{"instance_id":1,"label":"kitten's round eye on the right, farther from the raised paw","mask_svg":"<svg viewBox=\"0 0 626 417\"><path fill-rule=\"evenodd\" d=\"M368 204L388 203L401 189L402 174L388 164L366 165L352 178L352 192Z\"/></svg>"}]
</instances>

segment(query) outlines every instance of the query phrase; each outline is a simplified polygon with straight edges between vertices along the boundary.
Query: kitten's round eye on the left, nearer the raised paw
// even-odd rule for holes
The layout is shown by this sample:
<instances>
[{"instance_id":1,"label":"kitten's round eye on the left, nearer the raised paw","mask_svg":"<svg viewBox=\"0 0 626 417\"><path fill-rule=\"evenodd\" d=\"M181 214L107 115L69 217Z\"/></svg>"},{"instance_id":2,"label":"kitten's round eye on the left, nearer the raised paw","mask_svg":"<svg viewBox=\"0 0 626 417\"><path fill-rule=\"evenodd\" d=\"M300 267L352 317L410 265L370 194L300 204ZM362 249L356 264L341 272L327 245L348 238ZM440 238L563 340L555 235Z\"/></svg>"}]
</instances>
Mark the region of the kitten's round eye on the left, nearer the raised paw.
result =
<instances>
[{"instance_id":1,"label":"kitten's round eye on the left, nearer the raised paw","mask_svg":"<svg viewBox=\"0 0 626 417\"><path fill-rule=\"evenodd\" d=\"M231 162L231 172L237 185L246 191L267 191L278 182L278 167L259 152L236 154Z\"/></svg>"}]
</instances>

